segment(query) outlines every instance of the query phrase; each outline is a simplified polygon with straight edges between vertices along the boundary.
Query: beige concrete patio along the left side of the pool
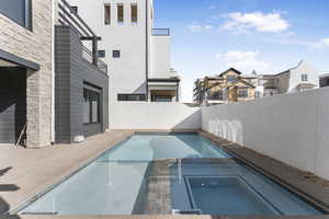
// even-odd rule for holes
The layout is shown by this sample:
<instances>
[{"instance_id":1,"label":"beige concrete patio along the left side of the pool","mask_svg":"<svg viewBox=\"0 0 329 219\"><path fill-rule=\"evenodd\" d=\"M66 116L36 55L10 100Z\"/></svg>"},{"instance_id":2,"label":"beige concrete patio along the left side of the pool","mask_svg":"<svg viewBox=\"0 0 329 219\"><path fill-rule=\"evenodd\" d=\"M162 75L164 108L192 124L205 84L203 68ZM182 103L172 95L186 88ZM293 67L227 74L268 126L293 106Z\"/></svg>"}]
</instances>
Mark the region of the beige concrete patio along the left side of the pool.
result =
<instances>
[{"instance_id":1,"label":"beige concrete patio along the left side of the pool","mask_svg":"<svg viewBox=\"0 0 329 219\"><path fill-rule=\"evenodd\" d=\"M44 149L0 147L0 214L60 182L131 135L133 131L111 130L81 143Z\"/></svg>"}]
</instances>

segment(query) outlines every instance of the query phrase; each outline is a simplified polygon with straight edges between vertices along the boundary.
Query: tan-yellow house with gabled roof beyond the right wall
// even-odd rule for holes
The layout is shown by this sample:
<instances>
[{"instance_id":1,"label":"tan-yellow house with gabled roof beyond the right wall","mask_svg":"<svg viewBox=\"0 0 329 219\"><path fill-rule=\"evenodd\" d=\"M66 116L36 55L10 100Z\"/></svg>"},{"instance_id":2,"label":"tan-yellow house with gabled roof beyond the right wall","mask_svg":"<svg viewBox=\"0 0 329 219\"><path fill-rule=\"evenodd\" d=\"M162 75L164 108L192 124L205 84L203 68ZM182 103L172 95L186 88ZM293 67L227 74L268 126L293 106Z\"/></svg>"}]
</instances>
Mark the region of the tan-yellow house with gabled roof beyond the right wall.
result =
<instances>
[{"instance_id":1,"label":"tan-yellow house with gabled roof beyond the right wall","mask_svg":"<svg viewBox=\"0 0 329 219\"><path fill-rule=\"evenodd\" d=\"M194 103L202 105L225 104L253 100L257 76L242 76L234 68L216 77L205 77L194 83Z\"/></svg>"}]
</instances>

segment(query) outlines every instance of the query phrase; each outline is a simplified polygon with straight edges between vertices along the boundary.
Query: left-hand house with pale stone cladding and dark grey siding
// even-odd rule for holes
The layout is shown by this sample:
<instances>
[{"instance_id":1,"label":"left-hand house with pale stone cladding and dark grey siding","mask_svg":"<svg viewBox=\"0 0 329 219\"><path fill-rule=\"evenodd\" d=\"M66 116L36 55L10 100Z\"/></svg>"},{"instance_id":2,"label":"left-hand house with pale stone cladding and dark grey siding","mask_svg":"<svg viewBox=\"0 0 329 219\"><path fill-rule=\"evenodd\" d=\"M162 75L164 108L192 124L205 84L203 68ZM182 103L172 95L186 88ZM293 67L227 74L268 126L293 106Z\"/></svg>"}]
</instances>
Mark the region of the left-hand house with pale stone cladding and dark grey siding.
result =
<instances>
[{"instance_id":1,"label":"left-hand house with pale stone cladding and dark grey siding","mask_svg":"<svg viewBox=\"0 0 329 219\"><path fill-rule=\"evenodd\" d=\"M100 37L67 2L54 5L50 0L0 5L0 143L39 148L109 127ZM80 41L91 41L92 53Z\"/></svg>"}]
</instances>

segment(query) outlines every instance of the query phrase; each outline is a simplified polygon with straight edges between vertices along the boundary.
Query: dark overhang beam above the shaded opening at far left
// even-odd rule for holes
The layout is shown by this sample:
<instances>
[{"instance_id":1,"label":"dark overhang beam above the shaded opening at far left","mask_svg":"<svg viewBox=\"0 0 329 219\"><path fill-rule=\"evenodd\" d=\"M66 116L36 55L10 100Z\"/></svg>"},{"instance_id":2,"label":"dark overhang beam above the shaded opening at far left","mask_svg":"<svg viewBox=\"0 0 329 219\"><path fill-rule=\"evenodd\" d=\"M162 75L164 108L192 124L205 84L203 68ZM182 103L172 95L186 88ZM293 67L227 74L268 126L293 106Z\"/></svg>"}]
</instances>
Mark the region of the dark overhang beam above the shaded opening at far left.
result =
<instances>
[{"instance_id":1,"label":"dark overhang beam above the shaded opening at far left","mask_svg":"<svg viewBox=\"0 0 329 219\"><path fill-rule=\"evenodd\" d=\"M5 67L23 67L31 70L39 70L39 65L35 64L33 61L30 61L27 59L21 58L16 55L13 55L11 53L4 51L0 49L0 60L2 66ZM0 65L1 67L1 65Z\"/></svg>"}]
</instances>

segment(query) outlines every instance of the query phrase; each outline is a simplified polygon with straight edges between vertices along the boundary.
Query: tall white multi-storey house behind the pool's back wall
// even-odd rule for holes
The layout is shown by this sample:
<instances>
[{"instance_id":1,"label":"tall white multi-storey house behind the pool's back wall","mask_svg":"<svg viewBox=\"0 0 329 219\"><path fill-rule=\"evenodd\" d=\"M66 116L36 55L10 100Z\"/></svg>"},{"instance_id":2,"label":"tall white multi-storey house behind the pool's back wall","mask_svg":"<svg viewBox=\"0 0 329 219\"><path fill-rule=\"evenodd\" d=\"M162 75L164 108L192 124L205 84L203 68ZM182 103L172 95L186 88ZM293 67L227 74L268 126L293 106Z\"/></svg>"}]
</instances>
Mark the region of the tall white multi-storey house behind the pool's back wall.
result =
<instances>
[{"instance_id":1,"label":"tall white multi-storey house behind the pool's back wall","mask_svg":"<svg viewBox=\"0 0 329 219\"><path fill-rule=\"evenodd\" d=\"M69 2L102 35L111 103L180 101L180 78L170 67L170 30L154 28L152 0Z\"/></svg>"}]
</instances>

